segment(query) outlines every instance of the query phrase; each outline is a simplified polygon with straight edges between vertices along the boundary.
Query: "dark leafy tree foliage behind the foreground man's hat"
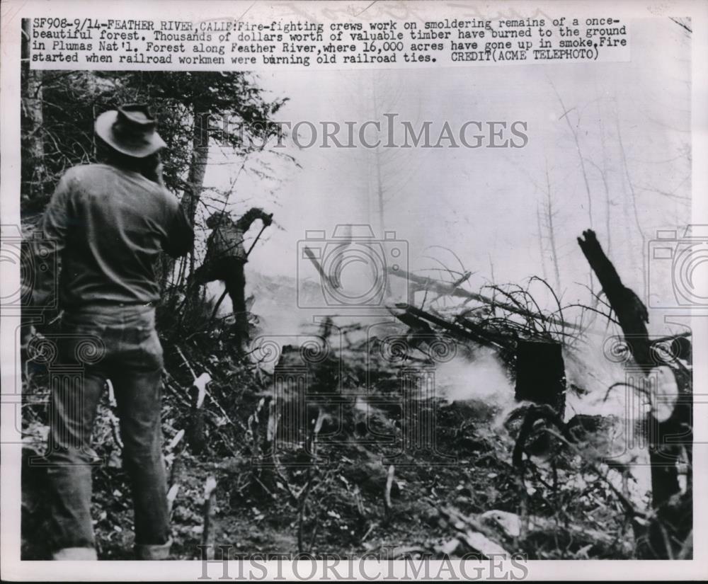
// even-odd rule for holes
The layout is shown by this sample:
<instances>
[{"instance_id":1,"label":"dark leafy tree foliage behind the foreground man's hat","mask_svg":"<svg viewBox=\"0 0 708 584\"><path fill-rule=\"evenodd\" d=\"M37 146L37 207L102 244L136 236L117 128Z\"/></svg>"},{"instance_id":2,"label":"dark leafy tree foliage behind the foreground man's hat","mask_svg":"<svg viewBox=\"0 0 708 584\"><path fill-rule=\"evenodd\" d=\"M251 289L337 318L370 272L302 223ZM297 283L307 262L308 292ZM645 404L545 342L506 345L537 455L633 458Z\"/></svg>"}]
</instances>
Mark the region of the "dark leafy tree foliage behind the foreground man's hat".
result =
<instances>
[{"instance_id":1,"label":"dark leafy tree foliage behind the foreground man's hat","mask_svg":"<svg viewBox=\"0 0 708 584\"><path fill-rule=\"evenodd\" d=\"M193 151L210 142L229 147L236 156L265 151L275 135L273 115L287 101L268 99L257 80L243 72L195 73L190 71L44 71L41 91L42 127L38 136L44 147L42 161L28 144L28 124L23 124L22 204L24 212L40 212L53 185L67 168L96 161L93 122L105 110L123 103L148 103L167 143L164 179L175 193L184 193ZM34 97L34 96L30 96ZM27 118L25 113L25 118ZM224 125L224 122L227 122ZM46 169L40 177L39 197L30 197L34 168Z\"/></svg>"}]
</instances>

